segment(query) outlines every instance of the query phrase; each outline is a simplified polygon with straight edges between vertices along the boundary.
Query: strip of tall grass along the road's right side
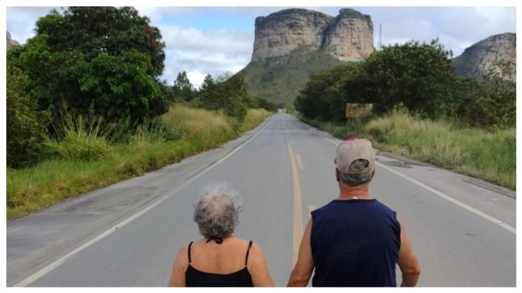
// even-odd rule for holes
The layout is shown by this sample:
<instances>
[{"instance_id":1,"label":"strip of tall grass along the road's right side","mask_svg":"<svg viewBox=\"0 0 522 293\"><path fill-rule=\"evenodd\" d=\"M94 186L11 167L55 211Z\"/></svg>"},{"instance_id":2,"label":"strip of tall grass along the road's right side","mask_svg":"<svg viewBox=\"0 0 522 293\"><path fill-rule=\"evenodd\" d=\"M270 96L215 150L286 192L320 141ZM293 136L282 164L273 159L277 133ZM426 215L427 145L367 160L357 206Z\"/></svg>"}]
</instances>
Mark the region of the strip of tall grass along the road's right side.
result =
<instances>
[{"instance_id":1,"label":"strip of tall grass along the road's right side","mask_svg":"<svg viewBox=\"0 0 522 293\"><path fill-rule=\"evenodd\" d=\"M364 136L380 150L516 189L514 128L488 131L461 127L448 120L420 119L404 110L342 125L303 120L340 138Z\"/></svg>"}]
</instances>

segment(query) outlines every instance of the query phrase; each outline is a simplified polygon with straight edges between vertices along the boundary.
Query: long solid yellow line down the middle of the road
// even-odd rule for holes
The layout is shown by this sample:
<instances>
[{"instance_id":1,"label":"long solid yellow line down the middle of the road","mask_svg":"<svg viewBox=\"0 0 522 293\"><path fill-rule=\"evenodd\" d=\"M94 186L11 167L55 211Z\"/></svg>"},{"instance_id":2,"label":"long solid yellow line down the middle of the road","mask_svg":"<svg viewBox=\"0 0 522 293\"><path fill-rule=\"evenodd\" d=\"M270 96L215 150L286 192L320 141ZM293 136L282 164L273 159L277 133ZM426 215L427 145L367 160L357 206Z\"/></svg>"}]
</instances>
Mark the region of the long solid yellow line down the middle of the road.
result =
<instances>
[{"instance_id":1,"label":"long solid yellow line down the middle of the road","mask_svg":"<svg viewBox=\"0 0 522 293\"><path fill-rule=\"evenodd\" d=\"M283 125L285 125L288 155L290 155L290 165L292 166L292 182L294 183L294 234L292 237L292 246L294 249L292 251L292 264L295 264L297 261L297 254L299 253L299 245L301 244L301 238L303 237L303 205L301 203L301 184L299 183L299 171L297 171L294 150L292 149L292 140L290 139L290 134L288 134L285 120L283 120Z\"/></svg>"}]
</instances>

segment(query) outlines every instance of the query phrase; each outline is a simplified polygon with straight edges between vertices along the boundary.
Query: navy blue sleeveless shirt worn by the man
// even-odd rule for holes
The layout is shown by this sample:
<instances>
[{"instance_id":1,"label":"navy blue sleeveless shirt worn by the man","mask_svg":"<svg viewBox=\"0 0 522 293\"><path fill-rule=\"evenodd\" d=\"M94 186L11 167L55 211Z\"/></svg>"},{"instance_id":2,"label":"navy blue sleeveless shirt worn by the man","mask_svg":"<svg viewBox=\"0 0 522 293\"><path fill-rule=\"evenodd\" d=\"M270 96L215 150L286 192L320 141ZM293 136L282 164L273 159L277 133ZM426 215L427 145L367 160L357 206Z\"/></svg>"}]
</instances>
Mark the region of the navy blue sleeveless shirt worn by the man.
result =
<instances>
[{"instance_id":1,"label":"navy blue sleeveless shirt worn by the man","mask_svg":"<svg viewBox=\"0 0 522 293\"><path fill-rule=\"evenodd\" d=\"M312 212L314 287L396 287L396 213L371 200L333 200Z\"/></svg>"}]
</instances>

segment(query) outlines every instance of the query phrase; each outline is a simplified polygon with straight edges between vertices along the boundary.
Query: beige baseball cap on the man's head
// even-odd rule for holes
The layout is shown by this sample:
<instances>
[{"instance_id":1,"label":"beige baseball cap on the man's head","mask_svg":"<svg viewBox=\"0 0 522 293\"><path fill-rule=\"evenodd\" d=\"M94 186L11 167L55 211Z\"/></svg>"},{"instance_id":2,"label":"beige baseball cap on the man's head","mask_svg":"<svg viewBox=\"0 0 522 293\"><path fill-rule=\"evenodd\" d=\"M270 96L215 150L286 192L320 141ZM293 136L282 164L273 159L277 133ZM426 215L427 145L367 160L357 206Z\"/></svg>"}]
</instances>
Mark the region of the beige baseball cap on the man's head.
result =
<instances>
[{"instance_id":1,"label":"beige baseball cap on the man's head","mask_svg":"<svg viewBox=\"0 0 522 293\"><path fill-rule=\"evenodd\" d=\"M337 164L337 168L342 173L362 174L374 170L375 155L372 143L365 138L358 138L356 136L348 138L338 145L336 153L334 163ZM361 171L350 171L351 163L357 159L365 159L370 162L370 164Z\"/></svg>"}]
</instances>

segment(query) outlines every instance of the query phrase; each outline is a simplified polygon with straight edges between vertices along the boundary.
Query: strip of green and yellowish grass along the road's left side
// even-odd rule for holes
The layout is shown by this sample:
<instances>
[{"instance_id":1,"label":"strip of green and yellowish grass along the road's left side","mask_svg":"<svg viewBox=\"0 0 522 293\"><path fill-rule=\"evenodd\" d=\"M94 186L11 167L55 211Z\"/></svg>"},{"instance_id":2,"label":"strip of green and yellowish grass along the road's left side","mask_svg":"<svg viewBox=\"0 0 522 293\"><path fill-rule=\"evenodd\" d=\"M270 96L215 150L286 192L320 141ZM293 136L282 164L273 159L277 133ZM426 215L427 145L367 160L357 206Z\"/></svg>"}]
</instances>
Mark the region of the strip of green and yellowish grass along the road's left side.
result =
<instances>
[{"instance_id":1,"label":"strip of green and yellowish grass along the road's left side","mask_svg":"<svg viewBox=\"0 0 522 293\"><path fill-rule=\"evenodd\" d=\"M249 110L242 131L259 125L269 115L264 110ZM41 161L32 168L8 168L7 219L25 216L81 193L143 175L214 148L239 135L239 132L232 130L228 117L223 113L187 106L171 107L161 117L161 122L167 133L159 133L158 129L152 127L141 127L125 143L109 145L110 156L66 157L58 152L55 157ZM77 130L77 134L82 132L88 134L88 127ZM70 136L76 137L77 134ZM99 143L96 138L81 137L87 142ZM82 143L65 143L67 139L66 136L63 141L52 144L54 147L60 145L63 153L81 150Z\"/></svg>"}]
</instances>

